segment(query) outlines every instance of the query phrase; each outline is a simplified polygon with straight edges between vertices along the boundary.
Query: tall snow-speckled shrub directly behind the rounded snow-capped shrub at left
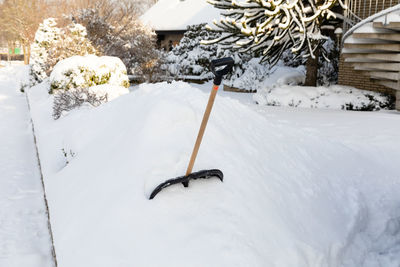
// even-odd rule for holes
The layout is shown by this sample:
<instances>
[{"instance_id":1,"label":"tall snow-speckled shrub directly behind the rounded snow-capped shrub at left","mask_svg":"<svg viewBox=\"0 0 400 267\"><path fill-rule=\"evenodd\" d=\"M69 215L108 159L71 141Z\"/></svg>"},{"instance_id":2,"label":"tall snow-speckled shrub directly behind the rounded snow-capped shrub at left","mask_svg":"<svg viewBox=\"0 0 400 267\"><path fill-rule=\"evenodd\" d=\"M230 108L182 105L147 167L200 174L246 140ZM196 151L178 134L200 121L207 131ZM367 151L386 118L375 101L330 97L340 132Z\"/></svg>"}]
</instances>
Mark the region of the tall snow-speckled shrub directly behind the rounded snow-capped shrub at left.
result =
<instances>
[{"instance_id":1,"label":"tall snow-speckled shrub directly behind the rounded snow-capped shrub at left","mask_svg":"<svg viewBox=\"0 0 400 267\"><path fill-rule=\"evenodd\" d=\"M97 50L86 36L86 29L80 24L70 23L59 28L56 19L45 19L39 25L31 47L33 80L43 81L62 59L74 55L96 54Z\"/></svg>"}]
</instances>

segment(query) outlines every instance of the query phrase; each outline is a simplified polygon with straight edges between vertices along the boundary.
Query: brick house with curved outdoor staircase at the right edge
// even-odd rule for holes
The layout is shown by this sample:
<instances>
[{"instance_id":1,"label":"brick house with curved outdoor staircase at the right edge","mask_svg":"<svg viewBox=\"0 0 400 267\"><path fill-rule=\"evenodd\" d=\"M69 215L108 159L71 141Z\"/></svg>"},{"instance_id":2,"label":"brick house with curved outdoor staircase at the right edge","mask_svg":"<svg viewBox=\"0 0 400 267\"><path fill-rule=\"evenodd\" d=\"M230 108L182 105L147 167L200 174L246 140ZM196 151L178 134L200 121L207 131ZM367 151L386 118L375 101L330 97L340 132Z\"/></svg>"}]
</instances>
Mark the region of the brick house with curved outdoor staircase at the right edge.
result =
<instances>
[{"instance_id":1,"label":"brick house with curved outdoor staircase at the right edge","mask_svg":"<svg viewBox=\"0 0 400 267\"><path fill-rule=\"evenodd\" d=\"M400 0L347 0L339 84L396 97L400 110Z\"/></svg>"}]
</instances>

